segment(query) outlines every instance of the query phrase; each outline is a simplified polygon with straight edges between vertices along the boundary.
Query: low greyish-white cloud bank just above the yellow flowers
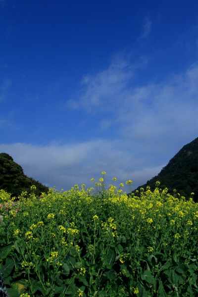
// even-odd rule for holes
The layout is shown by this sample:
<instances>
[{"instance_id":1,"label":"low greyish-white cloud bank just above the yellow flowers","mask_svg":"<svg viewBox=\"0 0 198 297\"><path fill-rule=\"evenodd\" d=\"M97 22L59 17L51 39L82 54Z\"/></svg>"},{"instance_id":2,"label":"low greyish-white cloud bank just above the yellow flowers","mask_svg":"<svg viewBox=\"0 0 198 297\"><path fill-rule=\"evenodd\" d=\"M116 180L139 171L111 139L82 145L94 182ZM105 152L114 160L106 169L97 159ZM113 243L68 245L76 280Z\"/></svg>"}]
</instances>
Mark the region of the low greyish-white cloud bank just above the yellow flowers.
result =
<instances>
[{"instance_id":1,"label":"low greyish-white cloud bank just above the yellow flowers","mask_svg":"<svg viewBox=\"0 0 198 297\"><path fill-rule=\"evenodd\" d=\"M34 146L25 143L1 144L0 151L10 154L20 164L24 173L49 187L69 190L75 184L91 187L90 179L96 181L101 171L106 171L107 186L115 176L117 185L133 180L133 189L156 175L158 167L139 166L133 153L123 148L119 142L95 140L73 145ZM141 160L139 160L141 163ZM130 166L129 166L130 164ZM129 191L125 187L125 191Z\"/></svg>"}]
</instances>

